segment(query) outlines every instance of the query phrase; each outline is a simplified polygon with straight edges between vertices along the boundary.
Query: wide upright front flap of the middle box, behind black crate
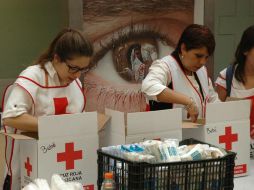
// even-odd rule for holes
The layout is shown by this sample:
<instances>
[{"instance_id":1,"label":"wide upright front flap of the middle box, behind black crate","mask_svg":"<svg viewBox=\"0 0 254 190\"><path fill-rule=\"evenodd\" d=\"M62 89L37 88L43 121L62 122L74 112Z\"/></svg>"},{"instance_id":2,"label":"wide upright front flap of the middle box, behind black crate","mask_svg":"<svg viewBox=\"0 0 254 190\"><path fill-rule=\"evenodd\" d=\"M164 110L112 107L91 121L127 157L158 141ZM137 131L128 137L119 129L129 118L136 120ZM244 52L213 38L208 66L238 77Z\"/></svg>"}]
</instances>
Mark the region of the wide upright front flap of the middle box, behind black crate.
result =
<instances>
[{"instance_id":1,"label":"wide upright front flap of the middle box, behind black crate","mask_svg":"<svg viewBox=\"0 0 254 190\"><path fill-rule=\"evenodd\" d=\"M181 129L182 109L127 114L127 135Z\"/></svg>"}]
</instances>

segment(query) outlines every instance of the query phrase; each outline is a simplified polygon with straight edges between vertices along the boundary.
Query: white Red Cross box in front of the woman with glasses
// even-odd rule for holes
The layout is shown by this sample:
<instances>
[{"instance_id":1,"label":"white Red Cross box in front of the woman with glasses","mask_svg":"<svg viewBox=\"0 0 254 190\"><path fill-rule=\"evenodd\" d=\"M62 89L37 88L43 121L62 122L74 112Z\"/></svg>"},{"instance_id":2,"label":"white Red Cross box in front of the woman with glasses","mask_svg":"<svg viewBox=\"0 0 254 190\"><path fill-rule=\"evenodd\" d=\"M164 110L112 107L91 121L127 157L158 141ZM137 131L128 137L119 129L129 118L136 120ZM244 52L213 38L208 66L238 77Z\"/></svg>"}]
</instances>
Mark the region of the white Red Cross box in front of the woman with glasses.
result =
<instances>
[{"instance_id":1,"label":"white Red Cross box in front of the woman with glasses","mask_svg":"<svg viewBox=\"0 0 254 190\"><path fill-rule=\"evenodd\" d=\"M38 138L12 135L20 140L21 185L36 178L49 183L53 174L97 189L97 114L95 112L39 117Z\"/></svg>"}]
</instances>

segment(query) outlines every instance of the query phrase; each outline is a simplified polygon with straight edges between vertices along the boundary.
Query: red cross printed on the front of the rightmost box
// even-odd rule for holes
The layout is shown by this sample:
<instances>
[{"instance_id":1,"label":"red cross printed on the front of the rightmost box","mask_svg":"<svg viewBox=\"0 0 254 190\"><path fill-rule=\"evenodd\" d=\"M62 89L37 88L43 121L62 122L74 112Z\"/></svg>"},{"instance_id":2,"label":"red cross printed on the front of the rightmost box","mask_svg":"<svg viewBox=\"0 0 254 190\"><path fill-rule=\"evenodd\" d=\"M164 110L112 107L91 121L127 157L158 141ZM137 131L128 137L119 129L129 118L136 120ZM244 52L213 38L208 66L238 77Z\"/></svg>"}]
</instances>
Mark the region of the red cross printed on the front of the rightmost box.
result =
<instances>
[{"instance_id":1,"label":"red cross printed on the front of the rightmost box","mask_svg":"<svg viewBox=\"0 0 254 190\"><path fill-rule=\"evenodd\" d=\"M232 134L232 127L225 127L225 135L219 136L219 143L225 143L226 150L232 150L232 143L238 141L238 134Z\"/></svg>"}]
</instances>

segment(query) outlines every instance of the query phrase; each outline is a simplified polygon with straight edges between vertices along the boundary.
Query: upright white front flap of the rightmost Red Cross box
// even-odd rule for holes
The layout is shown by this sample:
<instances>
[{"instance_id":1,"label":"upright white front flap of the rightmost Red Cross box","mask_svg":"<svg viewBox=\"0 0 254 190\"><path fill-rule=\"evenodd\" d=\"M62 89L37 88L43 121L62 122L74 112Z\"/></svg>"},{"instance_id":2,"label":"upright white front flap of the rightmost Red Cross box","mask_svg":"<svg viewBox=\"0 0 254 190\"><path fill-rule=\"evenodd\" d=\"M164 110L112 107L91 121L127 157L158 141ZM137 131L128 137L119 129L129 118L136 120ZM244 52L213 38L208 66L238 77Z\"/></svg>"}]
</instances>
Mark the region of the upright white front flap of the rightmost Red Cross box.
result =
<instances>
[{"instance_id":1,"label":"upright white front flap of the rightmost Red Cross box","mask_svg":"<svg viewBox=\"0 0 254 190\"><path fill-rule=\"evenodd\" d=\"M249 119L250 106L250 100L207 104L206 124Z\"/></svg>"}]
</instances>

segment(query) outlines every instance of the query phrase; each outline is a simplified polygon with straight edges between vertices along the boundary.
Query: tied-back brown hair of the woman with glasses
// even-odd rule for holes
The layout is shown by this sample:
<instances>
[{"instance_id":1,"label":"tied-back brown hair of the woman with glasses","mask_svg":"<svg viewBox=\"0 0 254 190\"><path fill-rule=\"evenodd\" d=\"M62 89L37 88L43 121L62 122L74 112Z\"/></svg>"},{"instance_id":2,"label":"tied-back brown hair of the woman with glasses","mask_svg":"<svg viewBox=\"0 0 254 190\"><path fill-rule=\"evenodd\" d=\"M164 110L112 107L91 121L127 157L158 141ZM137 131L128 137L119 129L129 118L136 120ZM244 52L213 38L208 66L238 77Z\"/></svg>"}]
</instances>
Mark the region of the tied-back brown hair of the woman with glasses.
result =
<instances>
[{"instance_id":1,"label":"tied-back brown hair of the woman with glasses","mask_svg":"<svg viewBox=\"0 0 254 190\"><path fill-rule=\"evenodd\" d=\"M74 29L64 29L57 34L50 43L48 49L42 53L35 64L44 65L52 61L57 54L61 61L72 60L77 56L91 57L93 55L93 46L79 31Z\"/></svg>"}]
</instances>

